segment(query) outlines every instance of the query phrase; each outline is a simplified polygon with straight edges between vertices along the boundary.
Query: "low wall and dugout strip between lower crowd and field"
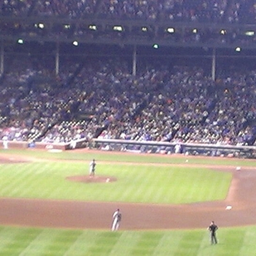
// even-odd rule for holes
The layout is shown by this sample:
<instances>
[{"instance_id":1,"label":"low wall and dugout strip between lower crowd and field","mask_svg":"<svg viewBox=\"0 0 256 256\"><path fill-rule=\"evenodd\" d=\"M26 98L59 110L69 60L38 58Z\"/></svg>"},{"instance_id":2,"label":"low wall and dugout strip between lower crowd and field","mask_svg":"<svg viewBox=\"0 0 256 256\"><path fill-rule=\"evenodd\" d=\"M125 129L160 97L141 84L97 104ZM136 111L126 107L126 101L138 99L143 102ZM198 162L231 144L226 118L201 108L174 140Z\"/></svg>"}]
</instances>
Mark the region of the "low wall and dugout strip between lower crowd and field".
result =
<instances>
[{"instance_id":1,"label":"low wall and dugout strip between lower crowd and field","mask_svg":"<svg viewBox=\"0 0 256 256\"><path fill-rule=\"evenodd\" d=\"M4 141L0 140L2 148ZM74 140L71 143L42 143L42 142L17 142L8 141L9 149L101 149L106 151L127 151L135 153L184 153L189 155L211 155L211 156L230 156L242 158L256 158L256 146L241 146L228 144L192 144L174 143L164 141L137 141L126 139L87 139Z\"/></svg>"}]
</instances>

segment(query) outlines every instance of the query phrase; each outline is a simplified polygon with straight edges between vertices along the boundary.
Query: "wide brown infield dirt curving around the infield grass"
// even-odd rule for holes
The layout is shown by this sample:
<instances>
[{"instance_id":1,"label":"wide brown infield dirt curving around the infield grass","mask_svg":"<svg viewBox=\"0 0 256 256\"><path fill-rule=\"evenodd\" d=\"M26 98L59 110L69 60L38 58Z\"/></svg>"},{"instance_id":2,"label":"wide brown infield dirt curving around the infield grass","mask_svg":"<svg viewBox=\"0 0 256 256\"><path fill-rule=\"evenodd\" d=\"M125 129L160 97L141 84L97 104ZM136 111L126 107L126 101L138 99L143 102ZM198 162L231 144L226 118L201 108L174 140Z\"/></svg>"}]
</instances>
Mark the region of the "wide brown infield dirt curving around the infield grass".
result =
<instances>
[{"instance_id":1,"label":"wide brown infield dirt curving around the infield grass","mask_svg":"<svg viewBox=\"0 0 256 256\"><path fill-rule=\"evenodd\" d=\"M256 170L212 168L233 174L229 194L223 201L159 205L2 198L0 225L108 230L116 208L121 208L123 214L121 230L205 228L211 220L222 227L255 225ZM231 210L226 210L228 205Z\"/></svg>"}]
</instances>

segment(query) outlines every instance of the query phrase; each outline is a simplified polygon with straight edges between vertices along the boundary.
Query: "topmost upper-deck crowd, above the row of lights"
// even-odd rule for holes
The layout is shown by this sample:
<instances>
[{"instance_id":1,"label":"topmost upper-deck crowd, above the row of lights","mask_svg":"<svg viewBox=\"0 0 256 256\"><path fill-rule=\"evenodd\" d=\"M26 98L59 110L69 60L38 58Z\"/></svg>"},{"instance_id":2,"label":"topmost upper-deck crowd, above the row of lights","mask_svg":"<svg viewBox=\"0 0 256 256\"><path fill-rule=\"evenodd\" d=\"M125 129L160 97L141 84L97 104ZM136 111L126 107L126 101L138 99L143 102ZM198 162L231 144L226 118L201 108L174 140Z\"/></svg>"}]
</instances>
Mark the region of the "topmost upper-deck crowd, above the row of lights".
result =
<instances>
[{"instance_id":1,"label":"topmost upper-deck crowd, above the row of lights","mask_svg":"<svg viewBox=\"0 0 256 256\"><path fill-rule=\"evenodd\" d=\"M254 23L254 0L3 0L0 16Z\"/></svg>"}]
</instances>

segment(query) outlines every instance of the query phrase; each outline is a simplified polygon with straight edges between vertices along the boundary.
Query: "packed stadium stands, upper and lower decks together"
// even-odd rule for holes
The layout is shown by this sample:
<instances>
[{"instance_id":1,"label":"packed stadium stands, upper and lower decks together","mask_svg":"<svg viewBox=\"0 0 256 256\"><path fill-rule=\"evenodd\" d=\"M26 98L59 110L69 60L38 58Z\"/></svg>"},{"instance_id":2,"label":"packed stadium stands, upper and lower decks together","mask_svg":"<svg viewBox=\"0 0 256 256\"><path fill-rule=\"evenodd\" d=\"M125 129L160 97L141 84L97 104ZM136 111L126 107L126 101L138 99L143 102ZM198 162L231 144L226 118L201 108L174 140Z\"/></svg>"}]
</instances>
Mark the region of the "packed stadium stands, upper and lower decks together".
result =
<instances>
[{"instance_id":1,"label":"packed stadium stands, upper and lower decks together","mask_svg":"<svg viewBox=\"0 0 256 256\"><path fill-rule=\"evenodd\" d=\"M252 24L256 7L252 0L80 0L13 1L0 4L0 17L10 19L0 25L4 36L23 35L45 39L77 39L139 36L130 26L124 35L94 34L83 23L68 30L55 18L80 21L87 17L107 21L174 21L181 24ZM48 30L25 21L49 17ZM51 20L53 19L53 20ZM106 20L103 20L106 21ZM177 23L177 24L178 24ZM74 26L74 28L73 28ZM150 37L176 43L214 42L221 45L254 43L254 37L231 32L213 32L203 26L191 32L161 34L153 27ZM45 31L45 32L44 32ZM163 30L162 30L163 31ZM220 31L218 31L220 32ZM104 37L105 36L105 37ZM138 39L138 38L137 38ZM39 41L41 43L41 41ZM7 47L11 47L7 45ZM5 58L0 80L0 137L16 141L71 142L75 139L135 139L201 144L247 145L255 143L256 70L239 65L217 72L200 62L193 65L168 60L140 65L136 75L124 57L62 57L54 73L55 50ZM79 52L78 54L80 54ZM15 55L15 53L13 53ZM190 58L190 57L189 57ZM209 61L210 62L210 61Z\"/></svg>"}]
</instances>

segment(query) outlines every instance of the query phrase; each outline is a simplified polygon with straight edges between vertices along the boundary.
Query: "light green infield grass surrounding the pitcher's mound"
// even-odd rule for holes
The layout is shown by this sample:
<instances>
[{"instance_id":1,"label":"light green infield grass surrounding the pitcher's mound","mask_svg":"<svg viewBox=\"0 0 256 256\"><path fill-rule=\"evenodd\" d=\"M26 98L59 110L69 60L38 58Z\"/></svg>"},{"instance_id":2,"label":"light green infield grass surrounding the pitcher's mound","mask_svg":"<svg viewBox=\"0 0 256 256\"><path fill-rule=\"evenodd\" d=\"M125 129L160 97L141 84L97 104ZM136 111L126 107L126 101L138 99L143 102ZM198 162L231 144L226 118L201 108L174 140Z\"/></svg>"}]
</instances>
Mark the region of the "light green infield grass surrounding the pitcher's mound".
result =
<instances>
[{"instance_id":1,"label":"light green infield grass surrounding the pitcher's mound","mask_svg":"<svg viewBox=\"0 0 256 256\"><path fill-rule=\"evenodd\" d=\"M116 182L81 183L67 176L88 175L81 162L36 162L6 165L0 172L4 197L122 201L140 203L191 203L224 199L231 173L188 167L99 165L96 175L115 176ZM14 173L11 180L8 173ZM216 190L222 185L222 190ZM173 194L176 196L174 197Z\"/></svg>"}]
</instances>

